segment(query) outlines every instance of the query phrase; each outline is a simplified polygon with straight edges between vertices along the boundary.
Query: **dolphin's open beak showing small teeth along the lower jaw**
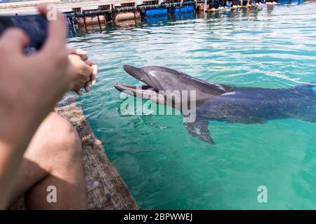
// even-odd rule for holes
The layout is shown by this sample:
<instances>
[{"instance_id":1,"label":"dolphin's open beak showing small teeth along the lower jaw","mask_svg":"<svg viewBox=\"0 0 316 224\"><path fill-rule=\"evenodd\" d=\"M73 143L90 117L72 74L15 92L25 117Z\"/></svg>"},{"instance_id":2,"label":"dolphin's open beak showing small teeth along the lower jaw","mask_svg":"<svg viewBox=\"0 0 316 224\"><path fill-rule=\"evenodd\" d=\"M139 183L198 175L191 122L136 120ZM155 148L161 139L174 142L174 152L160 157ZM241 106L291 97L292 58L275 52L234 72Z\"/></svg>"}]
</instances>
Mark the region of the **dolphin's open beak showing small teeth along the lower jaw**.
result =
<instances>
[{"instance_id":1,"label":"dolphin's open beak showing small teeth along the lower jaw","mask_svg":"<svg viewBox=\"0 0 316 224\"><path fill-rule=\"evenodd\" d=\"M148 99L149 95L156 95L158 94L158 90L155 90L154 87L149 85L149 82L147 80L147 76L145 73L143 73L140 69L130 66L130 65L124 65L123 69L129 73L129 75L133 76L134 78L142 81L143 83L147 85L125 85L120 83L115 83L114 87L121 91L125 92L126 94L133 95L134 97L142 97L145 99ZM136 95L137 94L137 95Z\"/></svg>"}]
</instances>

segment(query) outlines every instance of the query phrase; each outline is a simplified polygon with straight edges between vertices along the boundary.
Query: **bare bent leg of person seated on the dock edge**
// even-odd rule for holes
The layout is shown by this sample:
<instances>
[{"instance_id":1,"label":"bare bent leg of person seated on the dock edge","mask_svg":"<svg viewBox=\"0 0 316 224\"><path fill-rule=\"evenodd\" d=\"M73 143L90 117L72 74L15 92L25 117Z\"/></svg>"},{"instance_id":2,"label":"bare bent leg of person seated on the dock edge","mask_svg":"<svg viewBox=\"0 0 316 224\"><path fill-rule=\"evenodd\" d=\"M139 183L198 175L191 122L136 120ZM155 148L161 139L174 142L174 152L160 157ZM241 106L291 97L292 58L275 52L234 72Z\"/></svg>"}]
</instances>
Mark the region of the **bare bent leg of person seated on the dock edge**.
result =
<instances>
[{"instance_id":1,"label":"bare bent leg of person seated on the dock edge","mask_svg":"<svg viewBox=\"0 0 316 224\"><path fill-rule=\"evenodd\" d=\"M74 127L57 113L41 123L16 183L11 202L25 193L27 209L86 209L81 141ZM56 189L56 203L47 200L48 186Z\"/></svg>"}]
</instances>

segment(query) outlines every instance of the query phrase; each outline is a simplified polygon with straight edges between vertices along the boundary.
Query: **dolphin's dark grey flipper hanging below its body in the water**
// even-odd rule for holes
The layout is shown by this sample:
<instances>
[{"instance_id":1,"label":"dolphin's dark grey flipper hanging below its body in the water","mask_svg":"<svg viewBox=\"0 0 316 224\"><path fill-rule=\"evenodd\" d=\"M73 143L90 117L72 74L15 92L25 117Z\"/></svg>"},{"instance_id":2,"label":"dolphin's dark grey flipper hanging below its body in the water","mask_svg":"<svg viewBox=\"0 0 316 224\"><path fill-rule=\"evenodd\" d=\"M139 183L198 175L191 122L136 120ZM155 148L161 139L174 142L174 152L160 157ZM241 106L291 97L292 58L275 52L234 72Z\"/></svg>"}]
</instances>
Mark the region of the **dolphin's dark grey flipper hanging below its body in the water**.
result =
<instances>
[{"instance_id":1,"label":"dolphin's dark grey flipper hanging below its body in the water","mask_svg":"<svg viewBox=\"0 0 316 224\"><path fill-rule=\"evenodd\" d=\"M215 144L209 134L209 129L207 128L208 124L209 123L206 120L195 120L193 123L183 123L192 137L205 141L209 144Z\"/></svg>"}]
</instances>

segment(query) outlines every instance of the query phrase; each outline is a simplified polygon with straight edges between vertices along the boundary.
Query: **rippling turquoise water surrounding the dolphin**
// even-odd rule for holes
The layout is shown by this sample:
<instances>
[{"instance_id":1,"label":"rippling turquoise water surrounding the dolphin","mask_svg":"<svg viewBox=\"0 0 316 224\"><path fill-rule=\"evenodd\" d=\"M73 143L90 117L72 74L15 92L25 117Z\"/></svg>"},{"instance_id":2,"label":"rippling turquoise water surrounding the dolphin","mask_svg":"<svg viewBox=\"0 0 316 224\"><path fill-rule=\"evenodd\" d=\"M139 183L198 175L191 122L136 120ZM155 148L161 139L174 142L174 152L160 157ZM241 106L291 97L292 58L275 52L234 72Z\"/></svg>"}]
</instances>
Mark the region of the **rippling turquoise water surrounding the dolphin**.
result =
<instances>
[{"instance_id":1,"label":"rippling turquoise water surrounding the dolphin","mask_svg":"<svg viewBox=\"0 0 316 224\"><path fill-rule=\"evenodd\" d=\"M78 102L140 209L316 209L315 123L211 121L212 146L187 134L182 116L120 115L113 87L139 83L124 64L248 87L315 81L316 3L176 19L109 23L69 39L98 63L96 87Z\"/></svg>"}]
</instances>

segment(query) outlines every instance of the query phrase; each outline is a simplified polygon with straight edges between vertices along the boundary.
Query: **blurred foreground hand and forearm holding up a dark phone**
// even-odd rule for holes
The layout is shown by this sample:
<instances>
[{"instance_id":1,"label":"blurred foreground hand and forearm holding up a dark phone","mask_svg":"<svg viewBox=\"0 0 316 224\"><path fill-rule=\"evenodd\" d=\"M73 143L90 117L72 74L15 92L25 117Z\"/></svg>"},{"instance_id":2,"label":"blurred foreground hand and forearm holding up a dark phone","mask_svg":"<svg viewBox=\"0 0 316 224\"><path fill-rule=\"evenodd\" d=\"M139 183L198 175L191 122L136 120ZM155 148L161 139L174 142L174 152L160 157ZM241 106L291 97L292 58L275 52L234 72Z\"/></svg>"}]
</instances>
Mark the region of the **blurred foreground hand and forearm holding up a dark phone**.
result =
<instances>
[{"instance_id":1,"label":"blurred foreground hand and forearm holding up a dark phone","mask_svg":"<svg viewBox=\"0 0 316 224\"><path fill-rule=\"evenodd\" d=\"M39 6L39 12L46 15L48 10ZM0 118L5 118L0 120L1 139L14 142L17 134L32 137L32 131L69 90L73 74L65 47L67 29L63 15L56 16L48 22L46 42L33 55L22 53L29 39L20 29L8 29L0 38Z\"/></svg>"}]
</instances>

